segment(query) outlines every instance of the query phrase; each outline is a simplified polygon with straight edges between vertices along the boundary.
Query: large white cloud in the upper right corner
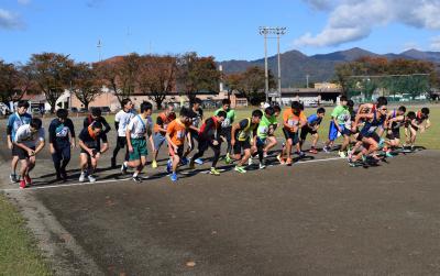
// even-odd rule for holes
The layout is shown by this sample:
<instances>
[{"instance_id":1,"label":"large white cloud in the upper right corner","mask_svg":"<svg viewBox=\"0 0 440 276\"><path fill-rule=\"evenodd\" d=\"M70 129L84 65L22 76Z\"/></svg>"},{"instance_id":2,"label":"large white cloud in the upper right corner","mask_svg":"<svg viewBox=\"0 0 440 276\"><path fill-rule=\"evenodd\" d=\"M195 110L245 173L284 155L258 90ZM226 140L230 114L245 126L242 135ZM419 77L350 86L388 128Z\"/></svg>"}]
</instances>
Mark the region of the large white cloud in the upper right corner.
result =
<instances>
[{"instance_id":1,"label":"large white cloud in the upper right corner","mask_svg":"<svg viewBox=\"0 0 440 276\"><path fill-rule=\"evenodd\" d=\"M316 35L304 34L294 42L295 46L338 46L365 38L374 27L392 22L418 29L440 30L440 0L304 1L312 9L333 8L330 9L323 30Z\"/></svg>"}]
</instances>

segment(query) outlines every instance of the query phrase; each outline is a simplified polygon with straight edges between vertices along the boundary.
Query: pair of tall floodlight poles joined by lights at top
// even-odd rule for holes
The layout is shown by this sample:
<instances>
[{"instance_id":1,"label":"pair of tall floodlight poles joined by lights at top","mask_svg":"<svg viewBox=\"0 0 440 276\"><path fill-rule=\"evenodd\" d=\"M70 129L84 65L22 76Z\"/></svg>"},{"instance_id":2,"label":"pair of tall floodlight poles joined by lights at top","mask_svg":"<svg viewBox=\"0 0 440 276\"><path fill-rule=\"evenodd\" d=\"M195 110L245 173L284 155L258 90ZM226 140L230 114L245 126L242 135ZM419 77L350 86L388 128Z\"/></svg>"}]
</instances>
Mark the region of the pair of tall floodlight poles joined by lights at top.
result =
<instances>
[{"instance_id":1,"label":"pair of tall floodlight poles joined by lights at top","mask_svg":"<svg viewBox=\"0 0 440 276\"><path fill-rule=\"evenodd\" d=\"M276 34L277 38L277 53L278 53L278 97L279 104L282 104L282 65L280 65L280 53L279 53L279 38L282 35L286 33L286 27L271 27L271 26L261 26L260 34L264 35L264 75L265 75L265 93L266 93L266 102L268 102L268 69L267 69L267 34Z\"/></svg>"}]
</instances>

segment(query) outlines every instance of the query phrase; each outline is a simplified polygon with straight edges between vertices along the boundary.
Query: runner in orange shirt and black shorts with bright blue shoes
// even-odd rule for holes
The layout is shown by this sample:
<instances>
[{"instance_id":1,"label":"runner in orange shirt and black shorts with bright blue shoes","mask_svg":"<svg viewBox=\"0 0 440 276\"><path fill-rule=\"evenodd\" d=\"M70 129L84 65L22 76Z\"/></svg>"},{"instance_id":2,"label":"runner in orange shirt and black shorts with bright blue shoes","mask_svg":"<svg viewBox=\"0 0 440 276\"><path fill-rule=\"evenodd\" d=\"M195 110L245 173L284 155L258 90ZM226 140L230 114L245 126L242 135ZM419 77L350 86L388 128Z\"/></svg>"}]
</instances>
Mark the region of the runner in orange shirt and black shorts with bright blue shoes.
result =
<instances>
[{"instance_id":1,"label":"runner in orange shirt and black shorts with bright blue shoes","mask_svg":"<svg viewBox=\"0 0 440 276\"><path fill-rule=\"evenodd\" d=\"M166 141L170 159L167 163L166 169L172 173L172 181L177 181L177 166L184 156L185 137L188 141L188 146L191 145L191 133L188 131L190 124L190 111L186 108L180 109L179 118L169 123L166 130Z\"/></svg>"}]
</instances>

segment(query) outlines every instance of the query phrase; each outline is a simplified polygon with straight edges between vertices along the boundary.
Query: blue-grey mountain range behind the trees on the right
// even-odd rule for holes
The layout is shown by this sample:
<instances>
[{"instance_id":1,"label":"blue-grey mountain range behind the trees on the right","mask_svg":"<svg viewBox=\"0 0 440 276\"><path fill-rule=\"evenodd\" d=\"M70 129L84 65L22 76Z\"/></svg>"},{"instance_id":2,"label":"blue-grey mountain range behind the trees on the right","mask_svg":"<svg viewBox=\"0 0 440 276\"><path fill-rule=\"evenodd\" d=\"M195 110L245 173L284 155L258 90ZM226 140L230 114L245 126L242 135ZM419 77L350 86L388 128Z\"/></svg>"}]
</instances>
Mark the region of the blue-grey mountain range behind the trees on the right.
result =
<instances>
[{"instance_id":1,"label":"blue-grey mountain range behind the trees on the right","mask_svg":"<svg viewBox=\"0 0 440 276\"><path fill-rule=\"evenodd\" d=\"M408 49L400 54L380 55L363 48L351 48L330 54L307 56L299 51L288 51L280 54L282 86L302 87L306 85L306 76L309 75L310 82L330 81L334 76L334 66L340 63L353 62L363 56L386 57L388 59L406 58L421 59L437 64L440 68L440 52L422 52ZM220 62L227 74L244 71L251 66L264 67L264 58L256 60L224 60ZM270 70L277 75L277 56L267 57Z\"/></svg>"}]
</instances>

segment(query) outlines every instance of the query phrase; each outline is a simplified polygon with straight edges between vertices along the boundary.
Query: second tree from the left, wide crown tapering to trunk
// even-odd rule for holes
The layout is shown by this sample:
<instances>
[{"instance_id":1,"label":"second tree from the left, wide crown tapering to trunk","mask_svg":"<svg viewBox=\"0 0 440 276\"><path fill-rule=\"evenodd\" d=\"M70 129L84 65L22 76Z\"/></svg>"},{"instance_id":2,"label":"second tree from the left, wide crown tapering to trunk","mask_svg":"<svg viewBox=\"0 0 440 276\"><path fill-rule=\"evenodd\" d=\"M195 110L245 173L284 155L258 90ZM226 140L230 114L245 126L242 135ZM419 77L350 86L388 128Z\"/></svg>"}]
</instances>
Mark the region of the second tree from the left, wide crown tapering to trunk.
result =
<instances>
[{"instance_id":1,"label":"second tree from the left, wide crown tapering to trunk","mask_svg":"<svg viewBox=\"0 0 440 276\"><path fill-rule=\"evenodd\" d=\"M72 81L74 60L68 55L56 53L33 54L26 66L33 81L44 92L53 113L56 100Z\"/></svg>"}]
</instances>

